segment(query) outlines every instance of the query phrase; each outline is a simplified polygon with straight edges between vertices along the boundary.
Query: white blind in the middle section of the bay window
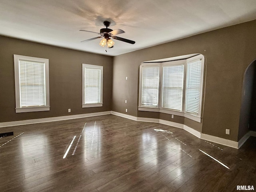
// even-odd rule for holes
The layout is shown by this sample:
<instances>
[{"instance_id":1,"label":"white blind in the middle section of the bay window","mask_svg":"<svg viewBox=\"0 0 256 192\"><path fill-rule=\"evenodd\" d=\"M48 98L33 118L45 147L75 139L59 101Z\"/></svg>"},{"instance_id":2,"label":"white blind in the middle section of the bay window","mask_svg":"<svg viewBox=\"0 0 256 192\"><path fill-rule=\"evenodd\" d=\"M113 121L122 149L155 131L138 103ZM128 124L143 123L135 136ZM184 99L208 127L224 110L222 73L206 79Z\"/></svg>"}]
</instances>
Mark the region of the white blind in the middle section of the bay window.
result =
<instances>
[{"instance_id":1,"label":"white blind in the middle section of the bay window","mask_svg":"<svg viewBox=\"0 0 256 192\"><path fill-rule=\"evenodd\" d=\"M162 108L182 110L184 65L163 67Z\"/></svg>"}]
</instances>

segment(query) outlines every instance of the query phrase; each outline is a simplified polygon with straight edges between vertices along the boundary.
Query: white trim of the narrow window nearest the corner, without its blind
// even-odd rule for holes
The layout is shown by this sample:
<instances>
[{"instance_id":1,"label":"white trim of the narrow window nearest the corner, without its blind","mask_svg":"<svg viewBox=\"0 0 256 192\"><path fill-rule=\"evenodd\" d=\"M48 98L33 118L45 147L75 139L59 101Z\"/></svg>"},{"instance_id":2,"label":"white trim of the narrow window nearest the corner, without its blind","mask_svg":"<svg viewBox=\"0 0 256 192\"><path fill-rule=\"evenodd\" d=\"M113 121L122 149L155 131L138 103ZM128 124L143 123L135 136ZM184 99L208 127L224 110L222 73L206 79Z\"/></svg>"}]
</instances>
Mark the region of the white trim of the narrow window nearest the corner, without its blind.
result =
<instances>
[{"instance_id":1,"label":"white trim of the narrow window nearest the corner, without its blind","mask_svg":"<svg viewBox=\"0 0 256 192\"><path fill-rule=\"evenodd\" d=\"M100 103L90 103L85 104L85 68L94 68L94 69L100 69ZM99 65L90 65L90 64L82 64L82 108L88 108L88 107L102 107L103 105L103 66Z\"/></svg>"}]
</instances>

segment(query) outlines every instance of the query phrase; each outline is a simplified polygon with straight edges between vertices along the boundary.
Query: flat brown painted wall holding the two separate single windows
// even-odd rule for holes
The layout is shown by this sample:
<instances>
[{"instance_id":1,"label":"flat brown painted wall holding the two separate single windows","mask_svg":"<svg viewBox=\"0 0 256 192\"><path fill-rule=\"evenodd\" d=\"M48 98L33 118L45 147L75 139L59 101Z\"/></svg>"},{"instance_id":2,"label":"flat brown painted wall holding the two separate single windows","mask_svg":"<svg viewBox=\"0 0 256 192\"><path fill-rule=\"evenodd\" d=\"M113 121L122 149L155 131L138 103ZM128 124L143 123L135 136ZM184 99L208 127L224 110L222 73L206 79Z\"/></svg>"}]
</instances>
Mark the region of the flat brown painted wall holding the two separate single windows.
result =
<instances>
[{"instance_id":1,"label":"flat brown painted wall holding the two separate single windows","mask_svg":"<svg viewBox=\"0 0 256 192\"><path fill-rule=\"evenodd\" d=\"M49 59L50 111L15 113L14 54ZM82 108L82 63L103 66L102 107ZM0 36L0 122L111 110L112 63L109 56Z\"/></svg>"}]
</instances>

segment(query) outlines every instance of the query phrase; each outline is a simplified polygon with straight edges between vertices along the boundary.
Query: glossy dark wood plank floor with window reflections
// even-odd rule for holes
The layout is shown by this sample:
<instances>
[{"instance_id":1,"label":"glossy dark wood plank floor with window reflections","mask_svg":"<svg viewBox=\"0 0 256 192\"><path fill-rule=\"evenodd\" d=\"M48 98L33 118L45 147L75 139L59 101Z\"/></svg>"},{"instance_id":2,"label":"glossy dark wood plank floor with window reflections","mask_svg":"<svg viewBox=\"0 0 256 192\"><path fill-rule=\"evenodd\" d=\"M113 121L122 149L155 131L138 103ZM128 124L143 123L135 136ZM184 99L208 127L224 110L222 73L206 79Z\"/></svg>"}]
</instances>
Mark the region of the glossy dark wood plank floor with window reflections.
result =
<instances>
[{"instance_id":1,"label":"glossy dark wood plank floor with window reflections","mask_svg":"<svg viewBox=\"0 0 256 192\"><path fill-rule=\"evenodd\" d=\"M237 150L179 128L114 115L0 128L7 131L14 136L0 138L1 192L256 188L255 137Z\"/></svg>"}]
</instances>

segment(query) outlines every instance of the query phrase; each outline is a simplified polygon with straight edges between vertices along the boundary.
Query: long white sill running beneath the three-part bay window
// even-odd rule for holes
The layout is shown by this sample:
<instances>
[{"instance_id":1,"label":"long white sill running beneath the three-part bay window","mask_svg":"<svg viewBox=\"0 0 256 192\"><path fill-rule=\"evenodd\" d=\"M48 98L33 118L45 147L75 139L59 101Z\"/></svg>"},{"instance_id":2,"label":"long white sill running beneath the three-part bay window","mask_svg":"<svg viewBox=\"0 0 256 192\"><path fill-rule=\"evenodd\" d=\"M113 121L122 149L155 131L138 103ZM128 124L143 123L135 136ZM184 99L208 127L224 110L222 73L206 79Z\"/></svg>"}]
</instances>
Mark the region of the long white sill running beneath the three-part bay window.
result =
<instances>
[{"instance_id":1,"label":"long white sill running beneath the three-part bay window","mask_svg":"<svg viewBox=\"0 0 256 192\"><path fill-rule=\"evenodd\" d=\"M200 118L198 116L194 116L192 114L182 112L182 111L174 111L174 110L160 109L160 108L150 108L150 107L138 107L138 110L139 111L160 112L160 113L182 116L182 117L186 117L188 119L194 120L194 121L199 122L199 123L201 123L201 121L202 121L202 118Z\"/></svg>"}]
</instances>

